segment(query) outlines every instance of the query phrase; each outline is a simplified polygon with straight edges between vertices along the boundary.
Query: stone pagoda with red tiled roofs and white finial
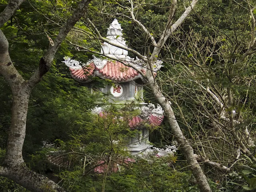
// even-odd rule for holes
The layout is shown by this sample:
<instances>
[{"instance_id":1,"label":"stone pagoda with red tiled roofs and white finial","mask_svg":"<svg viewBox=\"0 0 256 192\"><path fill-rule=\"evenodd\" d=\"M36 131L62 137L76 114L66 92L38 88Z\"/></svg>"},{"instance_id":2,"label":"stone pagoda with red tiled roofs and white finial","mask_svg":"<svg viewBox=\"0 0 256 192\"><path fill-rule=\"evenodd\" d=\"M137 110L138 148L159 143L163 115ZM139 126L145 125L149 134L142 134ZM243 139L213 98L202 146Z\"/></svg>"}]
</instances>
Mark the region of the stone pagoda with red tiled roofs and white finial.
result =
<instances>
[{"instance_id":1,"label":"stone pagoda with red tiled roofs and white finial","mask_svg":"<svg viewBox=\"0 0 256 192\"><path fill-rule=\"evenodd\" d=\"M126 46L126 41L123 38L122 28L115 19L107 29L107 37L111 44ZM143 60L138 58L130 58L128 51L104 42L101 45L101 53L106 57L116 60L94 58L86 64L77 60L72 60L69 57L64 57L64 63L69 67L72 78L80 82L83 86L94 91L92 84L93 77L98 77L103 80L111 80L114 85L106 85L99 90L102 93L108 94L109 102L115 104L124 104L133 102L138 99L140 102L140 115L134 116L129 126L131 129L138 129L141 132L135 138L128 138L127 149L132 155L140 154L152 147L149 144L149 132L144 124L151 126L159 126L164 118L163 110L160 105L147 104L143 100L143 85L147 83L146 79L138 72L146 74L146 67ZM162 67L161 61L156 61L154 64L154 73ZM132 67L135 66L136 70ZM94 113L104 117L104 107L96 107Z\"/></svg>"}]
</instances>

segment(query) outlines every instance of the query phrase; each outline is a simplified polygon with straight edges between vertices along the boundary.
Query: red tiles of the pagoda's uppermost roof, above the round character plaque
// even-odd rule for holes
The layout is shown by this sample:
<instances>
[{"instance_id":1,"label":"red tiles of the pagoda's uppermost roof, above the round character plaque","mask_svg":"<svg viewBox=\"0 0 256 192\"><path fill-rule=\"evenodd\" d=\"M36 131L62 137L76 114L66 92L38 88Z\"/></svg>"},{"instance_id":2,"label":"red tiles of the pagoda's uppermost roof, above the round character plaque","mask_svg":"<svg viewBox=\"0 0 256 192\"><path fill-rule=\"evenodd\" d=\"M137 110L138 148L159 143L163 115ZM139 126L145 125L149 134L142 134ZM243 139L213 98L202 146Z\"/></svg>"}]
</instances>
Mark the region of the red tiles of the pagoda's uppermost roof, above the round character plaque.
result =
<instances>
[{"instance_id":1,"label":"red tiles of the pagoda's uppermost roof, above the round character plaque","mask_svg":"<svg viewBox=\"0 0 256 192\"><path fill-rule=\"evenodd\" d=\"M96 71L98 73L96 73ZM118 82L126 82L140 78L141 75L131 67L127 67L121 62L107 61L102 69L97 68L92 61L90 64L79 69L70 68L71 75L78 81L90 81L89 76L99 76ZM142 70L145 73L145 70Z\"/></svg>"}]
</instances>

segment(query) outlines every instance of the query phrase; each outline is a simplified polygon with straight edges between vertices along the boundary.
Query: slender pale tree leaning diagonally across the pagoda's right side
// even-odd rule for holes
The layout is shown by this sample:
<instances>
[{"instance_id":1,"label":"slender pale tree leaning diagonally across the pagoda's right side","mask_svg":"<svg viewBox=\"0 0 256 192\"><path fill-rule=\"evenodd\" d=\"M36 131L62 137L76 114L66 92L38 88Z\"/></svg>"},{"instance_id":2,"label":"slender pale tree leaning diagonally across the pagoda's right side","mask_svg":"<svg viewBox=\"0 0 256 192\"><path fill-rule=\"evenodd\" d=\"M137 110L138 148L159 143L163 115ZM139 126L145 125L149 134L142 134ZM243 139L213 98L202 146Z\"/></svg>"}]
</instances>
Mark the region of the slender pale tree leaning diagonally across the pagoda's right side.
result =
<instances>
[{"instance_id":1,"label":"slender pale tree leaning diagonally across the pagoda's right side","mask_svg":"<svg viewBox=\"0 0 256 192\"><path fill-rule=\"evenodd\" d=\"M202 169L200 168L200 166L196 160L196 157L194 156L193 149L192 149L191 145L189 144L188 140L184 137L184 134L182 133L180 126L178 125L178 122L176 121L176 118L175 118L175 115L172 110L172 106L171 106L170 102L168 102L168 99L164 97L164 95L160 91L158 83L156 82L156 80L154 78L154 64L159 56L160 50L163 48L164 44L166 43L166 40L170 37L170 35L178 28L178 26L180 26L182 24L182 22L185 20L185 18L188 16L188 14L190 14L190 12L192 11L192 9L196 5L196 3L197 3L197 0L193 0L191 2L191 4L185 9L184 13L180 16L180 18L178 18L176 20L176 22L173 23L174 13L177 8L177 1L176 0L172 1L172 4L169 9L166 27L165 27L164 31L162 32L162 35L161 35L160 39L158 40L158 42L156 42L154 36L152 36L152 34L150 34L150 32L146 29L146 27L140 21L136 20L136 18L134 16L133 1L130 1L130 8L123 7L123 8L126 8L128 10L128 12L130 13L130 19L133 22L135 22L136 24L138 24L138 26L140 26L140 28L147 35L148 39L151 41L151 44L153 46L153 51L148 56L143 56L136 50L133 50L126 46L120 46L120 45L118 46L116 44L111 43L109 40L102 37L102 35L100 34L100 32L98 31L96 26L89 19L88 19L88 22L90 23L92 28L95 30L95 32L98 35L98 38L100 40L107 42L109 44L112 44L114 46L123 48L125 50L128 50L128 51L134 53L135 55L137 55L139 58L141 58L146 63L146 68L147 68L146 75L143 74L140 70L138 70L138 72L140 74L142 74L142 76L148 80L148 85L150 86L154 96L156 97L158 103L164 109L165 115L168 118L168 122L171 126L172 134L178 141L178 144L180 145L180 150L186 156L186 160L187 160L188 164L190 165L190 169L192 170L194 177L196 178L196 181L198 182L198 185L200 186L200 189L202 191L211 191L210 186L207 182L206 176L202 172ZM139 6L139 4L138 4L138 6ZM79 45L77 45L77 46L81 47ZM87 48L84 48L84 47L81 47L81 48L83 48L84 50L90 51ZM97 54L100 54L100 53L97 53ZM116 59L116 58L111 58L107 55L104 55L104 56L106 56L110 59L114 59L114 60ZM137 69L135 65L130 64L129 66Z\"/></svg>"}]
</instances>

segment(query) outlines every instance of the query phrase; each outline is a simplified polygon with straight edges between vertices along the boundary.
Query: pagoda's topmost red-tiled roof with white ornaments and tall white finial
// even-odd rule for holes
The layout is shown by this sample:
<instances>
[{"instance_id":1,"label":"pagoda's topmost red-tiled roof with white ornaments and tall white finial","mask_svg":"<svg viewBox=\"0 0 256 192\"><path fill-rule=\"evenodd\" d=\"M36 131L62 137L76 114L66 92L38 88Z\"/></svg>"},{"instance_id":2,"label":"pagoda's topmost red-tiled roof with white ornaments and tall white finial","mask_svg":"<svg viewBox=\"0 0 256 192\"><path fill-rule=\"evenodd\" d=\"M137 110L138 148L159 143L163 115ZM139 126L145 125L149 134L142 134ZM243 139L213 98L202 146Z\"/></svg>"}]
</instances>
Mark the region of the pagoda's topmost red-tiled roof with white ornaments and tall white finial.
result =
<instances>
[{"instance_id":1,"label":"pagoda's topmost red-tiled roof with white ornaments and tall white finial","mask_svg":"<svg viewBox=\"0 0 256 192\"><path fill-rule=\"evenodd\" d=\"M122 36L121 25L115 19L107 29L106 39L110 40L113 44L127 47L126 41ZM63 62L70 68L72 78L78 82L90 82L94 76L98 76L102 79L113 80L114 82L129 82L141 78L145 82L142 75L138 72L140 71L146 74L146 67L143 60L130 58L127 50L110 45L106 42L101 46L102 54L122 62L94 57L94 59L89 60L84 64L77 60L72 60L69 57L64 57ZM135 66L136 70L132 67L126 66L125 64L128 66L130 66L130 64ZM161 64L162 61L156 61L154 65L155 72L161 68Z\"/></svg>"}]
</instances>

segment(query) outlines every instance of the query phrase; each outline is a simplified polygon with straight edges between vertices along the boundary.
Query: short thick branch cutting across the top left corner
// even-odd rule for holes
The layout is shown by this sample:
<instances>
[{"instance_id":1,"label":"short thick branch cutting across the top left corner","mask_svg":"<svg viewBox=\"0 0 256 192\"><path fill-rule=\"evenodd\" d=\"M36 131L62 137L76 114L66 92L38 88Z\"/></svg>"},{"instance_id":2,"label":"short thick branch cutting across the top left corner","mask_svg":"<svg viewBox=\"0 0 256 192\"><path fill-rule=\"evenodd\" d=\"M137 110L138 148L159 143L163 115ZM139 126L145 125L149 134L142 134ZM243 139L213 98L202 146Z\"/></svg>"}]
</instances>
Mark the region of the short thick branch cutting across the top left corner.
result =
<instances>
[{"instance_id":1,"label":"short thick branch cutting across the top left corner","mask_svg":"<svg viewBox=\"0 0 256 192\"><path fill-rule=\"evenodd\" d=\"M0 13L0 27L2 27L10 18L19 6L25 0L10 0L3 12Z\"/></svg>"}]
</instances>

